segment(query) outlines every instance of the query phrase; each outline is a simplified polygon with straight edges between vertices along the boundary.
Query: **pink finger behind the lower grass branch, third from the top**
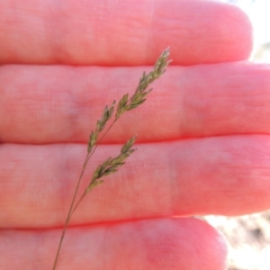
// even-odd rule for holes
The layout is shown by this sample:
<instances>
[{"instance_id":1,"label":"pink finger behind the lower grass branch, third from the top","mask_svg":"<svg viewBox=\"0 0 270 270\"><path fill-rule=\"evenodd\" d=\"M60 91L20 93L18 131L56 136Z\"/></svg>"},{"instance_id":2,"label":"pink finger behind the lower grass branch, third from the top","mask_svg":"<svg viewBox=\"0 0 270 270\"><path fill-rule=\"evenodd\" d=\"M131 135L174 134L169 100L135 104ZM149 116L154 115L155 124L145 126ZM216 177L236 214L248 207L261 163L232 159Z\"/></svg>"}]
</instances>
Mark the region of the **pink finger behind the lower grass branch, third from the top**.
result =
<instances>
[{"instance_id":1,"label":"pink finger behind the lower grass branch, third from the top","mask_svg":"<svg viewBox=\"0 0 270 270\"><path fill-rule=\"evenodd\" d=\"M0 226L62 226L85 148L3 145ZM107 157L118 155L119 148L101 146L96 151L78 194L90 183L94 168ZM117 173L106 176L105 183L85 196L71 224L175 215L240 215L269 208L269 136L187 139L138 148Z\"/></svg>"}]
</instances>

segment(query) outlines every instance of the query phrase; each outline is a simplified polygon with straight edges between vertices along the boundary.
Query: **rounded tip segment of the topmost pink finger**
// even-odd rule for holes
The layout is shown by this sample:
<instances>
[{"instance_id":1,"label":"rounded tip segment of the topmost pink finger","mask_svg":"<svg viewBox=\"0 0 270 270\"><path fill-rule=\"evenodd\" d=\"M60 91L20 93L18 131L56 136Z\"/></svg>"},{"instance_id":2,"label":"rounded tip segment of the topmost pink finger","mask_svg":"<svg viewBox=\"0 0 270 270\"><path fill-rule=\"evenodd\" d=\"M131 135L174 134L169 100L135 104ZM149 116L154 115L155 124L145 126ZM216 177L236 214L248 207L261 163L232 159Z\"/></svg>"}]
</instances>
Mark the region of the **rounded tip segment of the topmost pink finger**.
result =
<instances>
[{"instance_id":1,"label":"rounded tip segment of the topmost pink finger","mask_svg":"<svg viewBox=\"0 0 270 270\"><path fill-rule=\"evenodd\" d=\"M253 47L252 25L237 5L214 1L173 2L174 8L158 1L153 44L155 50L169 44L174 64L208 64L249 57Z\"/></svg>"}]
</instances>

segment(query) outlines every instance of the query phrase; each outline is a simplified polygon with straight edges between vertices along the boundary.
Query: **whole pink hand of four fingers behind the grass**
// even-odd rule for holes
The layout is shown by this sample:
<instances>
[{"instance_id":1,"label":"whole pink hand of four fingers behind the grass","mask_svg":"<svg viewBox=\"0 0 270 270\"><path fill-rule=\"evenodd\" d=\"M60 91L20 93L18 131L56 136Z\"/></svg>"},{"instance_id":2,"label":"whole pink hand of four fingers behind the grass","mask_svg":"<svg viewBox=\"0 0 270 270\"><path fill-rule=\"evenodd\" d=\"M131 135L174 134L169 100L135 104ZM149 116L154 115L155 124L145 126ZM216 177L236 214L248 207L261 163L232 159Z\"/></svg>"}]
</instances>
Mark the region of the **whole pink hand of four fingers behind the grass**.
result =
<instances>
[{"instance_id":1,"label":"whole pink hand of four fingers behind the grass","mask_svg":"<svg viewBox=\"0 0 270 270\"><path fill-rule=\"evenodd\" d=\"M136 133L139 150L78 207L57 269L226 269L226 240L190 216L270 206L270 67L247 62L247 16L202 0L0 10L0 269L51 269L90 130L167 46L174 62L80 191Z\"/></svg>"}]
</instances>

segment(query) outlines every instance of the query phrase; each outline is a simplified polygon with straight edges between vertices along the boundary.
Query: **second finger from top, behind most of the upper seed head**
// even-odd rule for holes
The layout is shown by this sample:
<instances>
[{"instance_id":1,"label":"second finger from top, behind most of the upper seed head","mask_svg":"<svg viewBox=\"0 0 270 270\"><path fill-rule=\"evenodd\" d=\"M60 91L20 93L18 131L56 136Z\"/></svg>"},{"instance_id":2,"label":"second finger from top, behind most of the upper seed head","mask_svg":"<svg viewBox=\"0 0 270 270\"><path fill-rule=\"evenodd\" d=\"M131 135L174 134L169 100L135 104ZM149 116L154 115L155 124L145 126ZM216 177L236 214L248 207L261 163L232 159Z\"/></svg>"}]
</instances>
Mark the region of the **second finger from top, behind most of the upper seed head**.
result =
<instances>
[{"instance_id":1,"label":"second finger from top, behind most of the upper seed head","mask_svg":"<svg viewBox=\"0 0 270 270\"><path fill-rule=\"evenodd\" d=\"M86 142L104 105L134 93L142 69L1 67L0 139ZM269 78L267 65L169 67L147 102L125 113L103 142L269 133Z\"/></svg>"}]
</instances>

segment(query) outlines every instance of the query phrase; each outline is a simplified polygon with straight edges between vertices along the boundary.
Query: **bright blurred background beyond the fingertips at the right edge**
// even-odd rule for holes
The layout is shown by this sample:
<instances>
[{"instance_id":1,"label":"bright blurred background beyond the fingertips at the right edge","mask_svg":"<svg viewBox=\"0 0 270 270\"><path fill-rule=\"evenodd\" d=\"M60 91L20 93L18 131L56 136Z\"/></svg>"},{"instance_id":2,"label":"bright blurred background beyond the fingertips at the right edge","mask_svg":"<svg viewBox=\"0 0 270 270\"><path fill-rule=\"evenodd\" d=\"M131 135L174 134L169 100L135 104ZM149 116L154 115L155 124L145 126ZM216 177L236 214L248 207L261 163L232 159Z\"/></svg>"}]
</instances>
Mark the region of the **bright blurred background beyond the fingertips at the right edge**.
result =
<instances>
[{"instance_id":1,"label":"bright blurred background beyond the fingertips at the right edge","mask_svg":"<svg viewBox=\"0 0 270 270\"><path fill-rule=\"evenodd\" d=\"M270 63L270 0L217 1L237 4L248 14L254 28L251 60ZM270 211L205 219L229 241L229 270L270 270Z\"/></svg>"}]
</instances>

